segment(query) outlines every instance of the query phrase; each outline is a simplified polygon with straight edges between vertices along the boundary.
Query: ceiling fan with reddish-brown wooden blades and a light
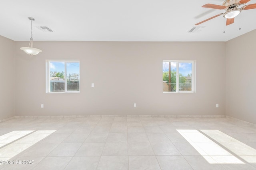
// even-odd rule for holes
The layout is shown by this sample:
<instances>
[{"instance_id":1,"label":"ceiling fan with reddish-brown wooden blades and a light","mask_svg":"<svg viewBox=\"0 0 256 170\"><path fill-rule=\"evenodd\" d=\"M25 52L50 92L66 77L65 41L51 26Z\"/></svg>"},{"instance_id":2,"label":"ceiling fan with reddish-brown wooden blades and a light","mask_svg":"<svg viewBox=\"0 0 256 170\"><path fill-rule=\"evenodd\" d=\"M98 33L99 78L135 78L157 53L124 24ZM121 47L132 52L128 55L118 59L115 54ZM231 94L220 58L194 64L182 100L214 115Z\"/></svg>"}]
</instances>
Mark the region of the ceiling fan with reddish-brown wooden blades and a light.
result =
<instances>
[{"instance_id":1,"label":"ceiling fan with reddish-brown wooden blades and a light","mask_svg":"<svg viewBox=\"0 0 256 170\"><path fill-rule=\"evenodd\" d=\"M250 10L250 9L256 8L256 4L249 4L249 5L242 6L242 8L238 8L238 6L240 6L242 4L246 4L249 1L250 0L225 0L223 2L222 6L215 5L215 4L205 4L202 7L212 8L212 9L217 9L217 10L226 10L226 12L218 14L216 16L213 16L213 17L203 20L201 22L198 22L195 25L202 24L202 23L204 23L208 20L211 20L213 18L216 18L217 16L220 16L220 15L222 15L224 18L227 18L226 25L233 24L235 17L238 16L238 14L240 14L240 12L242 10Z\"/></svg>"}]
</instances>

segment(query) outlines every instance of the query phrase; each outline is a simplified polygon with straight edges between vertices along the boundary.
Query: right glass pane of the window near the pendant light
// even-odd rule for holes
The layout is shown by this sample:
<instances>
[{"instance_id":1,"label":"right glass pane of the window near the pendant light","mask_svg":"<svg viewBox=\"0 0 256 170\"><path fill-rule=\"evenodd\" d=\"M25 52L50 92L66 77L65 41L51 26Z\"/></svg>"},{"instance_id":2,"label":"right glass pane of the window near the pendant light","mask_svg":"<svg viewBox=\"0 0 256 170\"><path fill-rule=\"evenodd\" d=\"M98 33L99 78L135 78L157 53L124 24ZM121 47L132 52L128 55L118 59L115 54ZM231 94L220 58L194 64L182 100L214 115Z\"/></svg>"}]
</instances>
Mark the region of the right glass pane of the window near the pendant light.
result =
<instances>
[{"instance_id":1,"label":"right glass pane of the window near the pendant light","mask_svg":"<svg viewBox=\"0 0 256 170\"><path fill-rule=\"evenodd\" d=\"M79 62L67 63L67 91L80 90Z\"/></svg>"}]
</instances>

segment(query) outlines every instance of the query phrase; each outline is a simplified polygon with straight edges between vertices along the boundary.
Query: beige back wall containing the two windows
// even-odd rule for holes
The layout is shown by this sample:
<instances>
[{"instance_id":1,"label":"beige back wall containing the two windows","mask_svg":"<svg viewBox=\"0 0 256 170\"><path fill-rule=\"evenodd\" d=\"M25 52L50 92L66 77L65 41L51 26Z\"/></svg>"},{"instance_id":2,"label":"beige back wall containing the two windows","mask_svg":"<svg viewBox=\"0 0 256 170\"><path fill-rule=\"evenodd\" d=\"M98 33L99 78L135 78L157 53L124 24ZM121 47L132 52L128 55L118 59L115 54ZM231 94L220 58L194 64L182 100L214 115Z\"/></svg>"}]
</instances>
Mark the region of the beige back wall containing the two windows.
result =
<instances>
[{"instance_id":1,"label":"beige back wall containing the two windows","mask_svg":"<svg viewBox=\"0 0 256 170\"><path fill-rule=\"evenodd\" d=\"M33 57L15 44L17 116L225 114L225 42L34 42ZM46 94L46 59L79 59L81 92ZM196 60L197 92L162 93L162 60Z\"/></svg>"}]
</instances>

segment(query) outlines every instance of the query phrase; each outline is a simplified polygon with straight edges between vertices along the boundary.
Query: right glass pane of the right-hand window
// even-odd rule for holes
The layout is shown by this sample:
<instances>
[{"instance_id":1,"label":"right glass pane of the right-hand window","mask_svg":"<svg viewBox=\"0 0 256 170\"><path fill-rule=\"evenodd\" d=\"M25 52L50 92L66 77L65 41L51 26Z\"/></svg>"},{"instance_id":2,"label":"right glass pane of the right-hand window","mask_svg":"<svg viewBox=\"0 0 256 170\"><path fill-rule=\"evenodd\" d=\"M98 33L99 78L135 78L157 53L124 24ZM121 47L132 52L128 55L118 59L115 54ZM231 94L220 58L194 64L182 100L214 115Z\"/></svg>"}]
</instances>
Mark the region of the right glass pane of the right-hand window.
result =
<instances>
[{"instance_id":1,"label":"right glass pane of the right-hand window","mask_svg":"<svg viewBox=\"0 0 256 170\"><path fill-rule=\"evenodd\" d=\"M192 90L192 63L179 63L179 91Z\"/></svg>"}]
</instances>

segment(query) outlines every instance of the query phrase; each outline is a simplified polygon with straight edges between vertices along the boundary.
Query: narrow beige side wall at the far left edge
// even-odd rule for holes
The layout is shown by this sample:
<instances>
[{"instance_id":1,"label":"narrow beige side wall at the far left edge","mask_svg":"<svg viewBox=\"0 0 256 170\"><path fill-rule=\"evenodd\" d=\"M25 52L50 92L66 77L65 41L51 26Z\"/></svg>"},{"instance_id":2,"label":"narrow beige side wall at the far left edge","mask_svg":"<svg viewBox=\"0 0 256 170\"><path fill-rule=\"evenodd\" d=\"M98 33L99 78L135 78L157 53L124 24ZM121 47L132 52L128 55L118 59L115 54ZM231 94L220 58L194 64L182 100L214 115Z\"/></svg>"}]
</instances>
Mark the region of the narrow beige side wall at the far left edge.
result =
<instances>
[{"instance_id":1,"label":"narrow beige side wall at the far left edge","mask_svg":"<svg viewBox=\"0 0 256 170\"><path fill-rule=\"evenodd\" d=\"M14 41L0 36L0 120L14 116Z\"/></svg>"}]
</instances>

